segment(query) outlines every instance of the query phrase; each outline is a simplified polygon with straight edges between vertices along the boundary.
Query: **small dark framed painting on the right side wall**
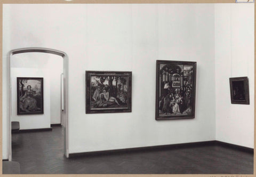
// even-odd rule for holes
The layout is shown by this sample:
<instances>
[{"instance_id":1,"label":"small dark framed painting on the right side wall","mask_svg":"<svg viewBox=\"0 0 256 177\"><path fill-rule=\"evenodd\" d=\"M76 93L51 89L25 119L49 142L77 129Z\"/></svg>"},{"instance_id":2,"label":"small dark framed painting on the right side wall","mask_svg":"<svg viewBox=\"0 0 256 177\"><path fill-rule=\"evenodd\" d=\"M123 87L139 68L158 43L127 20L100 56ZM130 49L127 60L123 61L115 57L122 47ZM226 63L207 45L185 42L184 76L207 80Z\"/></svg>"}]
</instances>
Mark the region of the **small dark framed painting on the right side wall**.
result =
<instances>
[{"instance_id":1,"label":"small dark framed painting on the right side wall","mask_svg":"<svg viewBox=\"0 0 256 177\"><path fill-rule=\"evenodd\" d=\"M229 78L231 104L250 104L248 77Z\"/></svg>"}]
</instances>

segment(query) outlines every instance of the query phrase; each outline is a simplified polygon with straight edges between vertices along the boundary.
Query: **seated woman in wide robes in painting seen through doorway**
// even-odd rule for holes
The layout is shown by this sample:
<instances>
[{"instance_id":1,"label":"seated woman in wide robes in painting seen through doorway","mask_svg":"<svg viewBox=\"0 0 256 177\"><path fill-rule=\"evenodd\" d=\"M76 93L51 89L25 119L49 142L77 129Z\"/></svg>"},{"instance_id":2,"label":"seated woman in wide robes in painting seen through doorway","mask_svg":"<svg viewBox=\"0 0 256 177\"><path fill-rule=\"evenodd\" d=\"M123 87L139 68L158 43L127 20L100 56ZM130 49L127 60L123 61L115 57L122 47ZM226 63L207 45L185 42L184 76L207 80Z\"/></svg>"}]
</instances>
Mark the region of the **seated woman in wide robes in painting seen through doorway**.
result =
<instances>
[{"instance_id":1,"label":"seated woman in wide robes in painting seen through doorway","mask_svg":"<svg viewBox=\"0 0 256 177\"><path fill-rule=\"evenodd\" d=\"M40 110L36 106L36 99L34 96L38 95L35 91L31 90L31 86L27 86L27 91L20 98L20 109L26 112Z\"/></svg>"}]
</instances>

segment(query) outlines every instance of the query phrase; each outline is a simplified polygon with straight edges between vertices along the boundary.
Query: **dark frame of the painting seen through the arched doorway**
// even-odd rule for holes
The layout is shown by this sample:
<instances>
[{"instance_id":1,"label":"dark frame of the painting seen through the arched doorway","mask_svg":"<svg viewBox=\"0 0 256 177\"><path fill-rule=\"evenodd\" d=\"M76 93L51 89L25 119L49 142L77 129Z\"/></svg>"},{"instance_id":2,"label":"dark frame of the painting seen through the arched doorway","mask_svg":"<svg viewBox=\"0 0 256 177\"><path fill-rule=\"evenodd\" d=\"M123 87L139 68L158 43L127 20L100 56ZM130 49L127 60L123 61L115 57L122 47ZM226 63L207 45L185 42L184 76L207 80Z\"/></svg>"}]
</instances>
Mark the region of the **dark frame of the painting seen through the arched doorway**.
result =
<instances>
[{"instance_id":1,"label":"dark frame of the painting seen through the arched doorway","mask_svg":"<svg viewBox=\"0 0 256 177\"><path fill-rule=\"evenodd\" d=\"M41 79L41 111L20 112L19 79ZM17 114L18 115L44 114L44 78L43 77L17 77Z\"/></svg>"}]
</instances>

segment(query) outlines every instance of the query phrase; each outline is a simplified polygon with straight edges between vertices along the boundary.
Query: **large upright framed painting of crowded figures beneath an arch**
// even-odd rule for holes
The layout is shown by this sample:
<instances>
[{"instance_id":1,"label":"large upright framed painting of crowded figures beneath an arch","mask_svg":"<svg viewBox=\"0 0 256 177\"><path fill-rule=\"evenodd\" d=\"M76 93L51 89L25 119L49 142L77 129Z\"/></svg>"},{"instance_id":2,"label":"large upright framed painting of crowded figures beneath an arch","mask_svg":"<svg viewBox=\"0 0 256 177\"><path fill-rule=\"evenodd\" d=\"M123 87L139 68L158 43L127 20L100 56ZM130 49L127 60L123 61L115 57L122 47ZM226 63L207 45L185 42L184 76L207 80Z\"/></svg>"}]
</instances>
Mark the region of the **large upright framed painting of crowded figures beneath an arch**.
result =
<instances>
[{"instance_id":1,"label":"large upright framed painting of crowded figures beneath an arch","mask_svg":"<svg viewBox=\"0 0 256 177\"><path fill-rule=\"evenodd\" d=\"M195 118L196 62L156 61L156 120Z\"/></svg>"}]
</instances>

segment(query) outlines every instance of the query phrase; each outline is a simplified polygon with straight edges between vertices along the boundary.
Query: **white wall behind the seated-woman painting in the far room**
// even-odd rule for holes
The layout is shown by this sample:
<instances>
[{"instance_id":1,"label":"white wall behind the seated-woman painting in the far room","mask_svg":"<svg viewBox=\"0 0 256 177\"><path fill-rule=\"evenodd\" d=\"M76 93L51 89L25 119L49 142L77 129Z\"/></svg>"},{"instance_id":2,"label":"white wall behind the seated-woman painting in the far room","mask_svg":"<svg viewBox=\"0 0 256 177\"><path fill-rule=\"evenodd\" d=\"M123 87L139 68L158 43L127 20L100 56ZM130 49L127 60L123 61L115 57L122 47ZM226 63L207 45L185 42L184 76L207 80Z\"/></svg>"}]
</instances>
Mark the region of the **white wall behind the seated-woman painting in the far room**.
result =
<instances>
[{"instance_id":1,"label":"white wall behind the seated-woman painting in the far room","mask_svg":"<svg viewBox=\"0 0 256 177\"><path fill-rule=\"evenodd\" d=\"M50 101L50 76L46 69L12 68L12 114L11 120L20 122L20 130L35 128L50 128L51 101ZM17 115L17 77L43 77L44 78L44 114Z\"/></svg>"}]
</instances>

